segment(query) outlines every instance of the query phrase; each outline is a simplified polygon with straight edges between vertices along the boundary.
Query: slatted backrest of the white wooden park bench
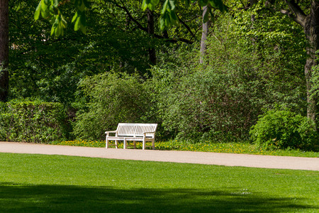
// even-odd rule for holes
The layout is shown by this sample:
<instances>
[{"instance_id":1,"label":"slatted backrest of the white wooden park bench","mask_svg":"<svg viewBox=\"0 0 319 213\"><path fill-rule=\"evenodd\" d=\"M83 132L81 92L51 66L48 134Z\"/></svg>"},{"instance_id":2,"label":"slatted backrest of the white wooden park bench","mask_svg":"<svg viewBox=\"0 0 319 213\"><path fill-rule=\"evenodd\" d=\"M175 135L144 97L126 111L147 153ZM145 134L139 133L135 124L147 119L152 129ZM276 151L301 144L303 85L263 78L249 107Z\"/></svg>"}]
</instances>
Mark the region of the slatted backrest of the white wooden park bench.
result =
<instances>
[{"instance_id":1,"label":"slatted backrest of the white wooden park bench","mask_svg":"<svg viewBox=\"0 0 319 213\"><path fill-rule=\"evenodd\" d=\"M157 124L118 124L117 136L142 137L145 132L155 132ZM146 134L147 137L155 138L155 133Z\"/></svg>"}]
</instances>

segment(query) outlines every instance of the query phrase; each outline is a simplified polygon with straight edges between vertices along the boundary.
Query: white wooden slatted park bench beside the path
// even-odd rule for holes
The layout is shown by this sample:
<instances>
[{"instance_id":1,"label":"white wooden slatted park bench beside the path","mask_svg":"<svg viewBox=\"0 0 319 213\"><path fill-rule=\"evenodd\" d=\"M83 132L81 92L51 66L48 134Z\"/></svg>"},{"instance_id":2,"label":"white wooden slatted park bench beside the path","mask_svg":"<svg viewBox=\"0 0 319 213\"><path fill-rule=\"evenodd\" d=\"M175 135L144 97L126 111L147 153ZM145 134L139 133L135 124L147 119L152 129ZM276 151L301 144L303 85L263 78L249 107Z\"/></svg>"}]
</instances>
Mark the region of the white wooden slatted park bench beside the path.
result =
<instances>
[{"instance_id":1,"label":"white wooden slatted park bench beside the path","mask_svg":"<svg viewBox=\"0 0 319 213\"><path fill-rule=\"evenodd\" d=\"M109 146L116 146L118 148L118 141L123 141L123 148L127 148L128 141L133 141L134 148L136 148L136 141L142 141L142 149L152 147L155 149L155 132L157 124L118 124L116 131L106 131L106 148ZM115 136L111 136L112 133ZM115 143L109 143L115 141ZM152 146L146 146L146 142L152 142Z\"/></svg>"}]
</instances>

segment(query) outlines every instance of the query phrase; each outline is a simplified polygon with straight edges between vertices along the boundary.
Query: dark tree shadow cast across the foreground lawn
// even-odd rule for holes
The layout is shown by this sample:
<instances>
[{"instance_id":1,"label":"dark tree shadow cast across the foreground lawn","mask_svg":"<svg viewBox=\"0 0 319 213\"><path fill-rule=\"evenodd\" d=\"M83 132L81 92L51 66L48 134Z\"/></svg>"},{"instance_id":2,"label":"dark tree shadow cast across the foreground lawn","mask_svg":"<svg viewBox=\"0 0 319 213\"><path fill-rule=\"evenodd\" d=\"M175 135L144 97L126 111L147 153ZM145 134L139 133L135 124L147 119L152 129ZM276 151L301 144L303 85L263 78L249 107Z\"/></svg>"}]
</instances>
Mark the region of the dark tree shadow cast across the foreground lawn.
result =
<instances>
[{"instance_id":1,"label":"dark tree shadow cast across the foreground lawn","mask_svg":"<svg viewBox=\"0 0 319 213\"><path fill-rule=\"evenodd\" d=\"M191 189L116 189L0 183L0 212L298 212L285 197Z\"/></svg>"}]
</instances>

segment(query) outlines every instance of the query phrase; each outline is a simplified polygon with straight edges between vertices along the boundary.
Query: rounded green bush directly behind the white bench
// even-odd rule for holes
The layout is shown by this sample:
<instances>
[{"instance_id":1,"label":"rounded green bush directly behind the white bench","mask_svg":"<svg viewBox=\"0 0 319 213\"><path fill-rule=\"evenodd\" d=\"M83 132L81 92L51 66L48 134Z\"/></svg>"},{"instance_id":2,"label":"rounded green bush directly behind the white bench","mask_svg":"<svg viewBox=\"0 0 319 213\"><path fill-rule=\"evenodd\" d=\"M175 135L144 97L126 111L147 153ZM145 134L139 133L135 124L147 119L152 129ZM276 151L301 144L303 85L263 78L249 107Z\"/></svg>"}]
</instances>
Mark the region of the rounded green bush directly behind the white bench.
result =
<instances>
[{"instance_id":1,"label":"rounded green bush directly behind the white bench","mask_svg":"<svg viewBox=\"0 0 319 213\"><path fill-rule=\"evenodd\" d=\"M77 138L101 140L118 123L156 121L152 94L138 75L104 73L87 77L80 87L89 102L77 114Z\"/></svg>"}]
</instances>

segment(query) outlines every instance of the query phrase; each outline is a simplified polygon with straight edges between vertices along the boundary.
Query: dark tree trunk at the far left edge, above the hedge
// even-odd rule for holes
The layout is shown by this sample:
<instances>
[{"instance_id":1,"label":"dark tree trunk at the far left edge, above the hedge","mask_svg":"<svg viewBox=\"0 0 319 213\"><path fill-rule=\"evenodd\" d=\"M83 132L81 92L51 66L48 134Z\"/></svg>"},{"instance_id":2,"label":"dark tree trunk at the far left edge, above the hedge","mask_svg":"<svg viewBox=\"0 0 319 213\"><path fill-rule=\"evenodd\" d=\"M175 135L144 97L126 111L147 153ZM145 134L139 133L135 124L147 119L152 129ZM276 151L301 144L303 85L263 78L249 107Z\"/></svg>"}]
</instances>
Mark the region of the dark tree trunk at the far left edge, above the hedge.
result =
<instances>
[{"instance_id":1,"label":"dark tree trunk at the far left edge, above the hedge","mask_svg":"<svg viewBox=\"0 0 319 213\"><path fill-rule=\"evenodd\" d=\"M9 90L9 0L0 0L0 102L8 98Z\"/></svg>"}]
</instances>

